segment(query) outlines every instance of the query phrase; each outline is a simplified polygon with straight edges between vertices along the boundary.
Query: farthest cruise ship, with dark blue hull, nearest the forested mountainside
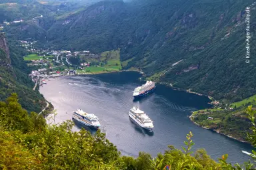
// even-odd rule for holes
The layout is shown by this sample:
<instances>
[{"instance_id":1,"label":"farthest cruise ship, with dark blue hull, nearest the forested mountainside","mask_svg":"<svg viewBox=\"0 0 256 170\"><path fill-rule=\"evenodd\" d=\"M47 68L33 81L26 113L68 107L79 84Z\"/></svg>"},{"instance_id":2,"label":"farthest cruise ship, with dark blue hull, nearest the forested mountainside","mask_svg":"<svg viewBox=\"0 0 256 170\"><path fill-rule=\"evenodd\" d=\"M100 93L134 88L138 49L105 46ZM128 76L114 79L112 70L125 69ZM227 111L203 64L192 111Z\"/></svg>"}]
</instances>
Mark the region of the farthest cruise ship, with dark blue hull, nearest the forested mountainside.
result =
<instances>
[{"instance_id":1,"label":"farthest cruise ship, with dark blue hull, nearest the forested mountainside","mask_svg":"<svg viewBox=\"0 0 256 170\"><path fill-rule=\"evenodd\" d=\"M133 91L133 97L139 98L145 96L146 94L153 92L153 90L155 90L155 82L147 81L146 84L135 88L135 90Z\"/></svg>"}]
</instances>

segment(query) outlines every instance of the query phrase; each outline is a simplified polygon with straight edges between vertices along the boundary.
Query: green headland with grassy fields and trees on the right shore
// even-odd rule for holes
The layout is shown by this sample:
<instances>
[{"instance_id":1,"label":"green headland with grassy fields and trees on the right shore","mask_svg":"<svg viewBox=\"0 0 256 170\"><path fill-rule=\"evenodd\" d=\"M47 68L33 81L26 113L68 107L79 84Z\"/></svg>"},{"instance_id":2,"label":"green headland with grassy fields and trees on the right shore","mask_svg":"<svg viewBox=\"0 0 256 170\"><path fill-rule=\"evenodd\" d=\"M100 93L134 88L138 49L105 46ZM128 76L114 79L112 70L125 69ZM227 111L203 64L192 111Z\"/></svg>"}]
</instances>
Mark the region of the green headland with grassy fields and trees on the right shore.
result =
<instances>
[{"instance_id":1,"label":"green headland with grassy fields and trees on the right shore","mask_svg":"<svg viewBox=\"0 0 256 170\"><path fill-rule=\"evenodd\" d=\"M256 95L239 102L218 104L215 108L197 110L193 112L190 119L204 128L248 142L247 133L252 133L251 121L245 112L248 106L256 110Z\"/></svg>"}]
</instances>

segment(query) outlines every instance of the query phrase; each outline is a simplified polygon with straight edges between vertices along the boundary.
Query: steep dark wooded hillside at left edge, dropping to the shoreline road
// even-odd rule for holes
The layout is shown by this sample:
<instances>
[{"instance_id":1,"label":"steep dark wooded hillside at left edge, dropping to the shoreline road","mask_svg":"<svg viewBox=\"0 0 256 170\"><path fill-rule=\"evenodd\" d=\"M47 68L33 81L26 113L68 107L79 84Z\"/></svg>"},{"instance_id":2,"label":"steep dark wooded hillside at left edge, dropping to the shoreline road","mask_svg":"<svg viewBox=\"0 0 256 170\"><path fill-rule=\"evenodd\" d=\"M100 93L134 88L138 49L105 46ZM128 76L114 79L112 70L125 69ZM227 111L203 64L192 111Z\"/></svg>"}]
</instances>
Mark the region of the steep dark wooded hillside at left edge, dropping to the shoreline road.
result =
<instances>
[{"instance_id":1,"label":"steep dark wooded hillside at left edge, dropping to the shoreline road","mask_svg":"<svg viewBox=\"0 0 256 170\"><path fill-rule=\"evenodd\" d=\"M3 34L0 34L0 100L5 100L16 92L19 102L29 112L40 112L45 99L38 91L33 91L34 83L27 76L29 69L23 62L23 50L10 46Z\"/></svg>"}]
</instances>

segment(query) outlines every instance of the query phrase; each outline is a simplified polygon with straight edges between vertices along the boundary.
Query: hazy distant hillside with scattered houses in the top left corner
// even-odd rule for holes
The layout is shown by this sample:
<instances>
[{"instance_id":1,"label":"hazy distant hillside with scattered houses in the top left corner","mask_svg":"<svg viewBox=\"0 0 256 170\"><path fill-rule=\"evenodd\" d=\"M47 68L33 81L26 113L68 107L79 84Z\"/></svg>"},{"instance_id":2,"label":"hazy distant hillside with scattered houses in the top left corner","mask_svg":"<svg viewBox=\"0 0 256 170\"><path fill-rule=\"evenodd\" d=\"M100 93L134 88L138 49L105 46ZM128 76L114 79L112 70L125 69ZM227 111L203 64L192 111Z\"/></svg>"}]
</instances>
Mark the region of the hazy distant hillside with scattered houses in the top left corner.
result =
<instances>
[{"instance_id":1,"label":"hazy distant hillside with scattered houses in the top left corner","mask_svg":"<svg viewBox=\"0 0 256 170\"><path fill-rule=\"evenodd\" d=\"M0 27L13 39L47 42L47 30L55 19L65 18L98 0L3 0L0 2ZM13 23L14 21L21 21ZM7 22L9 25L3 23Z\"/></svg>"}]
</instances>

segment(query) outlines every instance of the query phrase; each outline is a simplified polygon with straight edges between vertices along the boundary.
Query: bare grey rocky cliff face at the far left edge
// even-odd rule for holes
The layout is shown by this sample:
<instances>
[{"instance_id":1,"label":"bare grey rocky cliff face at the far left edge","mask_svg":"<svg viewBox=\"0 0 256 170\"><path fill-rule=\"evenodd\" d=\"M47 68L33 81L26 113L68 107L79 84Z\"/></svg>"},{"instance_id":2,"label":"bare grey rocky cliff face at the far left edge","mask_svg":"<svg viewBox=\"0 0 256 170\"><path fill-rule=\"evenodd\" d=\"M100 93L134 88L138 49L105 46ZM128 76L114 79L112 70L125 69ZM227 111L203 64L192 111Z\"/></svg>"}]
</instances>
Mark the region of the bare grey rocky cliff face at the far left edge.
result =
<instances>
[{"instance_id":1,"label":"bare grey rocky cliff face at the far left edge","mask_svg":"<svg viewBox=\"0 0 256 170\"><path fill-rule=\"evenodd\" d=\"M7 45L7 41L5 39L5 35L0 34L0 49L3 50L0 55L0 66L4 66L7 68L11 67L11 58L9 54L9 47Z\"/></svg>"}]
</instances>

